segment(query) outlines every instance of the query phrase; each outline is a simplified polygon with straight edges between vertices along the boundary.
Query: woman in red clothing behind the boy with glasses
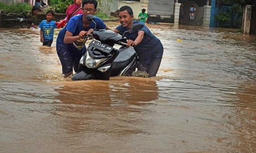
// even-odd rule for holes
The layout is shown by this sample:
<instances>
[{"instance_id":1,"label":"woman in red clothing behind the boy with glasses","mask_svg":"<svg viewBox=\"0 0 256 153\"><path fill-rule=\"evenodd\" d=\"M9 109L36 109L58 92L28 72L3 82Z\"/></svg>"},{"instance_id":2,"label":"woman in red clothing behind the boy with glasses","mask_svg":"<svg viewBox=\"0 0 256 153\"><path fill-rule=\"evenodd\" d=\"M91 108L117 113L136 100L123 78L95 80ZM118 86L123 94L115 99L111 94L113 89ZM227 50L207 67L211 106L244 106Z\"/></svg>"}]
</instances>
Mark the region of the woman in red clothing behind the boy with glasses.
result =
<instances>
[{"instance_id":1,"label":"woman in red clothing behind the boy with glasses","mask_svg":"<svg viewBox=\"0 0 256 153\"><path fill-rule=\"evenodd\" d=\"M71 17L74 15L83 14L82 10L82 0L74 0L74 4L70 4L66 10L67 17L64 20L60 20L58 22L57 28L63 27L68 20L70 20Z\"/></svg>"}]
</instances>

